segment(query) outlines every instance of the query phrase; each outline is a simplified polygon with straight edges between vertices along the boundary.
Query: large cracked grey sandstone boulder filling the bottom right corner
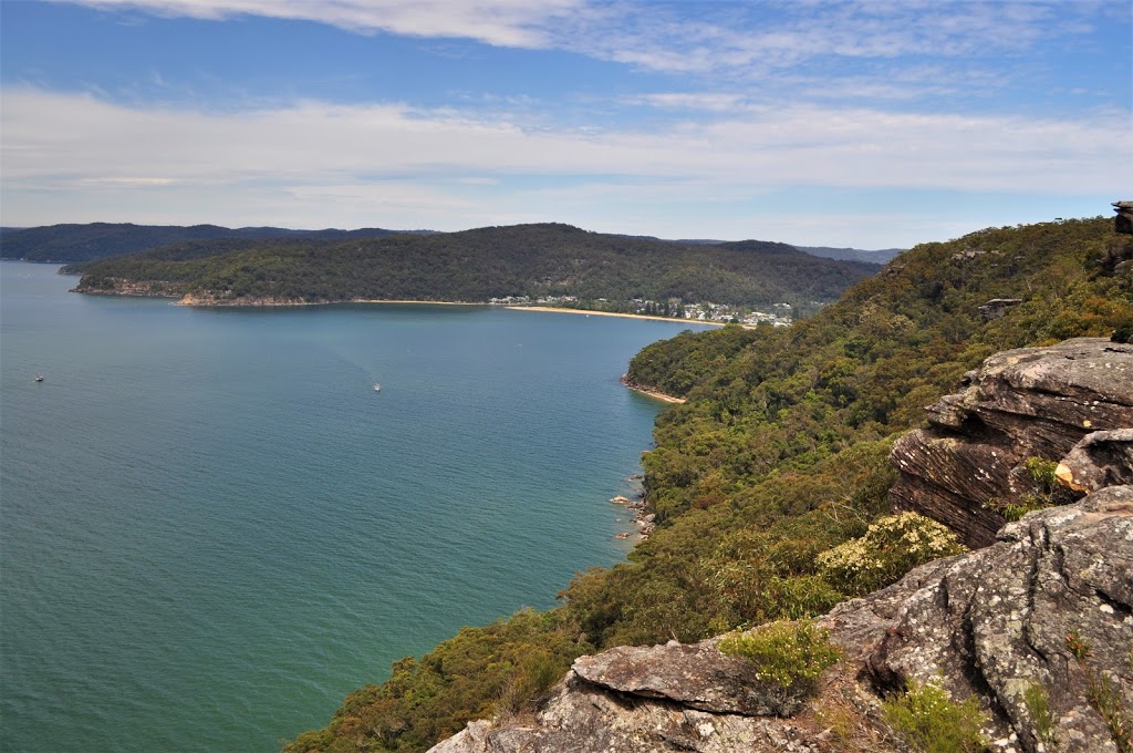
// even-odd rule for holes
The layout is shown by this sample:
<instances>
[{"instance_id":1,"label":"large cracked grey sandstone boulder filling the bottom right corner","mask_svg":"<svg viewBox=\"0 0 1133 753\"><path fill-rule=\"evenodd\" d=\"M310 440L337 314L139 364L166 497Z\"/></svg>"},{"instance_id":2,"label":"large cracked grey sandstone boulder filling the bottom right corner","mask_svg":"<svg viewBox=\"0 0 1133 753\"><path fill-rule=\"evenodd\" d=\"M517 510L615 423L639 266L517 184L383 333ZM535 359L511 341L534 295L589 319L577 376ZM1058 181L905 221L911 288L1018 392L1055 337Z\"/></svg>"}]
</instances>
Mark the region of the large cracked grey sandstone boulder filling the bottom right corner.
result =
<instances>
[{"instance_id":1,"label":"large cracked grey sandstone boulder filling the bottom right corner","mask_svg":"<svg viewBox=\"0 0 1133 753\"><path fill-rule=\"evenodd\" d=\"M1038 685L1057 720L1057 750L1116 752L1085 688L1091 672L1106 676L1133 709L1133 487L1031 513L999 538L841 604L824 623L863 657L879 692L942 682L954 697L985 699L991 731L1014 730L1034 751L1024 693ZM1091 646L1084 667L1068 635Z\"/></svg>"}]
</instances>

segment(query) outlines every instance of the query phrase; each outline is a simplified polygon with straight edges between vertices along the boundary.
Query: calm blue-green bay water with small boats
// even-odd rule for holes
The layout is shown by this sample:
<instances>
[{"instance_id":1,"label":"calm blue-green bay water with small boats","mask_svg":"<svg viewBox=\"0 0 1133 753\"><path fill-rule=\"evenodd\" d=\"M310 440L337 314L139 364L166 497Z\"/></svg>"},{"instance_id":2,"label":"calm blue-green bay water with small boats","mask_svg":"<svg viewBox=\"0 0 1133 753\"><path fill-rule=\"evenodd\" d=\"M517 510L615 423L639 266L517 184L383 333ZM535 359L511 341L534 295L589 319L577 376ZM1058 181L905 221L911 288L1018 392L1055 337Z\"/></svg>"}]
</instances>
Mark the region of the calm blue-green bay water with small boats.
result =
<instances>
[{"instance_id":1,"label":"calm blue-green bay water with small boats","mask_svg":"<svg viewBox=\"0 0 1133 753\"><path fill-rule=\"evenodd\" d=\"M682 324L75 281L0 263L2 750L275 751L624 557L617 376Z\"/></svg>"}]
</instances>

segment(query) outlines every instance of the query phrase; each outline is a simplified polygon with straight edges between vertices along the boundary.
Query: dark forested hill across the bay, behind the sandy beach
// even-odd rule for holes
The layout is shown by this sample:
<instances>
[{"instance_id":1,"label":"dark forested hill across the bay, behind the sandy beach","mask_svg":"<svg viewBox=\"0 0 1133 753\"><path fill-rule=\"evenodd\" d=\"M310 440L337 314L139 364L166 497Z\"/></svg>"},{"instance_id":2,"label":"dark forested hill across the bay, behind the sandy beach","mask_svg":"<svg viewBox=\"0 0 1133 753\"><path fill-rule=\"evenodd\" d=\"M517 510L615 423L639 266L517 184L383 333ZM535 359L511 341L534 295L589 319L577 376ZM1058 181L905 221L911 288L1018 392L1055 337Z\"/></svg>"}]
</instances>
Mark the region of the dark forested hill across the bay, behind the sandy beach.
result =
<instances>
[{"instance_id":1,"label":"dark forested hill across the bay, behind the sandy beach","mask_svg":"<svg viewBox=\"0 0 1133 753\"><path fill-rule=\"evenodd\" d=\"M682 245L566 225L239 243L225 253L173 246L86 264L77 289L188 295L206 305L508 296L807 304L833 301L879 269L817 259L777 243Z\"/></svg>"}]
</instances>

